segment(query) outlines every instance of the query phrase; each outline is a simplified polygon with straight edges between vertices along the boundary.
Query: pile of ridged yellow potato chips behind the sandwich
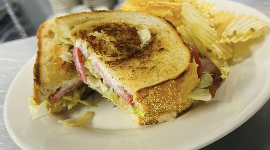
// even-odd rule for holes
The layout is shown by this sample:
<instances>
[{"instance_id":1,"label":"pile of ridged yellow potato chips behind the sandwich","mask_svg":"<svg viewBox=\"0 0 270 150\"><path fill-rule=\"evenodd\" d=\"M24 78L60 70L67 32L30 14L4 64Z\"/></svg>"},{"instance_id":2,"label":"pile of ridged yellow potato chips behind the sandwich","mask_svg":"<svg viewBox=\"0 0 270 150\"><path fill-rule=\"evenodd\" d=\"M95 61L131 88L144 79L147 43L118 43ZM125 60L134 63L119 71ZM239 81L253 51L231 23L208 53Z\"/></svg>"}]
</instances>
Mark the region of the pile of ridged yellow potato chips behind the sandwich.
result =
<instances>
[{"instance_id":1,"label":"pile of ridged yellow potato chips behind the sandwich","mask_svg":"<svg viewBox=\"0 0 270 150\"><path fill-rule=\"evenodd\" d=\"M149 12L171 21L184 41L214 62L225 79L232 43L259 37L269 23L251 15L213 10L213 6L196 0L129 0L122 10Z\"/></svg>"}]
</instances>

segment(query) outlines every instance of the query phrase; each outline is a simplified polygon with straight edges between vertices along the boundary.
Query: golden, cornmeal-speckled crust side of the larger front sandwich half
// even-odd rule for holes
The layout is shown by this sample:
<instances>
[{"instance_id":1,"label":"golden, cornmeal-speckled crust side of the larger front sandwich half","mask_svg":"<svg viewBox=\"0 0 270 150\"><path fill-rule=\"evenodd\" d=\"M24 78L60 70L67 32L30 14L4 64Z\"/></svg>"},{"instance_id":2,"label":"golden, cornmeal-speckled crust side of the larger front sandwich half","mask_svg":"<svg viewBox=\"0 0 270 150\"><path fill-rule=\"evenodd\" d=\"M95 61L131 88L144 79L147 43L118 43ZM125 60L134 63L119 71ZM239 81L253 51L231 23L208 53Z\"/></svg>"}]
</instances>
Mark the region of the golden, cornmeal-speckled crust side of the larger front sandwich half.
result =
<instances>
[{"instance_id":1,"label":"golden, cornmeal-speckled crust side of the larger front sandwich half","mask_svg":"<svg viewBox=\"0 0 270 150\"><path fill-rule=\"evenodd\" d=\"M141 104L143 112L146 113L144 117L138 117L137 124L158 123L158 117L166 112L175 112L176 114L185 112L194 102L193 99L186 98L187 93L199 81L195 62L193 62L177 78L137 91L135 101Z\"/></svg>"}]
</instances>

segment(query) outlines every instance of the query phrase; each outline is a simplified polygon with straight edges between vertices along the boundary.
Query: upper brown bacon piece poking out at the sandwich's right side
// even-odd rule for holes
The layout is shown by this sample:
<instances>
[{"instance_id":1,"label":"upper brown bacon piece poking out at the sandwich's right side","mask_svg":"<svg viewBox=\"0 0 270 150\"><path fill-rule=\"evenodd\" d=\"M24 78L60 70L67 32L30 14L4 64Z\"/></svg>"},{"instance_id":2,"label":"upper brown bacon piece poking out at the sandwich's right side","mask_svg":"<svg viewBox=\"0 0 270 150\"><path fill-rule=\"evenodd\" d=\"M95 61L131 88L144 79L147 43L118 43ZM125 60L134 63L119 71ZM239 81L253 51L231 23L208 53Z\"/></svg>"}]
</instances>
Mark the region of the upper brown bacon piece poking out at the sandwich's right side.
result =
<instances>
[{"instance_id":1,"label":"upper brown bacon piece poking out at the sandwich's right side","mask_svg":"<svg viewBox=\"0 0 270 150\"><path fill-rule=\"evenodd\" d=\"M209 59L205 57L205 55L202 55L201 53L198 53L201 58L202 63L202 74L210 73L214 74L216 76L221 76L220 70L217 68L217 66Z\"/></svg>"}]
</instances>

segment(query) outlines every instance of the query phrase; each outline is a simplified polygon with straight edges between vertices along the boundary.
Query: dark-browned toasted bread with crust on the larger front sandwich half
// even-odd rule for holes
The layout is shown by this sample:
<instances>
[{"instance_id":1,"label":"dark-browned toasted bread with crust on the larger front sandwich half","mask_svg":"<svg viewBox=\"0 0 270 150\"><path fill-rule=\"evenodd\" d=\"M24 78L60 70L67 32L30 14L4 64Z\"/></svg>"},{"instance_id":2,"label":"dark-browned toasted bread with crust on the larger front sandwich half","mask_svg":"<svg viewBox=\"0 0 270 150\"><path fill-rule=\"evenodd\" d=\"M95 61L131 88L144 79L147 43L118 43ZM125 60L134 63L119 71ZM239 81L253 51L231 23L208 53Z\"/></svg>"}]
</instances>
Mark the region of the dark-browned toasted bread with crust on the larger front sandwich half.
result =
<instances>
[{"instance_id":1,"label":"dark-browned toasted bread with crust on the larger front sandwich half","mask_svg":"<svg viewBox=\"0 0 270 150\"><path fill-rule=\"evenodd\" d=\"M170 22L151 14L111 10L70 14L55 23L65 38L86 42L92 61L98 61L102 71L140 104L146 114L137 116L137 124L157 123L158 118L192 105L186 96L199 82L196 65ZM141 29L151 32L143 48L137 33ZM105 38L93 37L94 32Z\"/></svg>"}]
</instances>

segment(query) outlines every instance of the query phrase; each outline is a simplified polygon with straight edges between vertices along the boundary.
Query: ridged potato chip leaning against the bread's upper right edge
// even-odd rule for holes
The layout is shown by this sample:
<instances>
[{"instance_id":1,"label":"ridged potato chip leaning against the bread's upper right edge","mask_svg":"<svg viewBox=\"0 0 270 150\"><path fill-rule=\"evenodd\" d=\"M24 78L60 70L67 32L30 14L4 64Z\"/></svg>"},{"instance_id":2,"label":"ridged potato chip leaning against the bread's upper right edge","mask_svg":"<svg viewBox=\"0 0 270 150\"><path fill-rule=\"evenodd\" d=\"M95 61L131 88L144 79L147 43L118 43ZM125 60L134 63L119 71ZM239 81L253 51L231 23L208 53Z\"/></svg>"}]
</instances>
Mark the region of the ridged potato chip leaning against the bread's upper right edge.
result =
<instances>
[{"instance_id":1,"label":"ridged potato chip leaning against the bread's upper right edge","mask_svg":"<svg viewBox=\"0 0 270 150\"><path fill-rule=\"evenodd\" d=\"M202 44L202 41L199 40L193 33L190 26L184 27L183 25L177 27L177 31L181 34L184 42L190 44L191 46L195 47L195 49L199 52L204 54L206 52L205 47Z\"/></svg>"}]
</instances>

